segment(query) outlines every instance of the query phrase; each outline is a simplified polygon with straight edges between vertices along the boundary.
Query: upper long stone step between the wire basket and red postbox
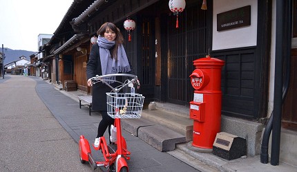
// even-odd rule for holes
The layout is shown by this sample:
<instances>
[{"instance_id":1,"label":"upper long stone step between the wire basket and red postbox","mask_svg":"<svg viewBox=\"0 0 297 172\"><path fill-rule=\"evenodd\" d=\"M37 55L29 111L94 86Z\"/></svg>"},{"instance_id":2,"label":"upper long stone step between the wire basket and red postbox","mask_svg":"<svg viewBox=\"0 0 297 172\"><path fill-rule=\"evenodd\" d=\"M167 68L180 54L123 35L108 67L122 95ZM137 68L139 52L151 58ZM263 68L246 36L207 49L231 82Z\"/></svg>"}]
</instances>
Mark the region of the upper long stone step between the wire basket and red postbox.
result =
<instances>
[{"instance_id":1,"label":"upper long stone step between the wire basket and red postbox","mask_svg":"<svg viewBox=\"0 0 297 172\"><path fill-rule=\"evenodd\" d=\"M159 110L142 110L142 118L181 133L186 137L186 142L193 139L193 120L189 117L171 113L171 111Z\"/></svg>"}]
</instances>

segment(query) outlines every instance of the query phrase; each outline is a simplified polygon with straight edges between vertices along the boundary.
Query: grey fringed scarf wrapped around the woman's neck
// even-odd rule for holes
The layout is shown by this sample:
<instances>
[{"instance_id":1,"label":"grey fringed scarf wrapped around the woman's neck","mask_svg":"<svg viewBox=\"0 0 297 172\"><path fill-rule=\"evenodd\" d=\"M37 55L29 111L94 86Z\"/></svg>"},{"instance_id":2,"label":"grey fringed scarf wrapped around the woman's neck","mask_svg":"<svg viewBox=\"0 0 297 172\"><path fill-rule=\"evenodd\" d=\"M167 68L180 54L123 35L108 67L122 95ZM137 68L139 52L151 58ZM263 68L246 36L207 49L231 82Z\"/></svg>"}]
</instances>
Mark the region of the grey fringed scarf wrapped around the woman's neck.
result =
<instances>
[{"instance_id":1,"label":"grey fringed scarf wrapped around the woman's neck","mask_svg":"<svg viewBox=\"0 0 297 172\"><path fill-rule=\"evenodd\" d=\"M131 71L126 52L123 45L117 49L117 61L111 58L109 50L115 45L115 41L108 41L102 36L98 36L97 44L99 45L100 61L102 75L127 73Z\"/></svg>"}]
</instances>

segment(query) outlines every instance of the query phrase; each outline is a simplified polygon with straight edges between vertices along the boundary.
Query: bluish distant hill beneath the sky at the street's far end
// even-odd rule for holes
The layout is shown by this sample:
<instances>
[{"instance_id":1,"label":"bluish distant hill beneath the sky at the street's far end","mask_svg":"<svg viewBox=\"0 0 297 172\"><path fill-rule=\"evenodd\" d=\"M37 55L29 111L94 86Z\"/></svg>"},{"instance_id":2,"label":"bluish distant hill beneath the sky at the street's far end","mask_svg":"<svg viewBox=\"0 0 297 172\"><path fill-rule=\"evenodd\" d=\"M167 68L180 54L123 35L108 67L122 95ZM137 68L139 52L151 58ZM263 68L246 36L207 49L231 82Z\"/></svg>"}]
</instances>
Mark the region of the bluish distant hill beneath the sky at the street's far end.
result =
<instances>
[{"instance_id":1,"label":"bluish distant hill beneath the sky at the street's far end","mask_svg":"<svg viewBox=\"0 0 297 172\"><path fill-rule=\"evenodd\" d=\"M0 50L2 52L2 50ZM20 56L26 56L26 59L30 61L30 55L35 54L36 52L26 51L26 50L12 50L6 48L4 54L6 56L4 64L10 63L12 61L18 61Z\"/></svg>"}]
</instances>

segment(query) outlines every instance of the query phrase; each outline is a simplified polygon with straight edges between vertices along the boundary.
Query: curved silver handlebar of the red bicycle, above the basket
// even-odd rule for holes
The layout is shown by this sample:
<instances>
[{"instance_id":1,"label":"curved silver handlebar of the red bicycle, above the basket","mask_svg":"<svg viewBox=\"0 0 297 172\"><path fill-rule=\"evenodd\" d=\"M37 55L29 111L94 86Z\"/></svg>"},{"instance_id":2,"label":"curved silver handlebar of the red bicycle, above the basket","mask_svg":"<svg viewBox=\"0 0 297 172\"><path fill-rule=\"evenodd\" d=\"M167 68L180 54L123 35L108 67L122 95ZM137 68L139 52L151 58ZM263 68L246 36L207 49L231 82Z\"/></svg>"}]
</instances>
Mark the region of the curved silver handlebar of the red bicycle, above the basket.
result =
<instances>
[{"instance_id":1,"label":"curved silver handlebar of the red bicycle, above the basket","mask_svg":"<svg viewBox=\"0 0 297 172\"><path fill-rule=\"evenodd\" d=\"M115 79L116 76L126 76L126 77L131 77L132 79L131 80L126 79L124 83L122 83L119 80ZM108 87L111 87L112 92L115 92L115 93L119 92L119 90L121 90L123 87L126 87L126 85L130 83L136 83L137 86L140 86L137 76L133 74L106 74L102 76L96 75L90 78L90 80L92 80L92 85L99 82L105 83L106 85L108 85ZM113 87L110 85L110 83L120 83L120 85L118 87Z\"/></svg>"}]
</instances>

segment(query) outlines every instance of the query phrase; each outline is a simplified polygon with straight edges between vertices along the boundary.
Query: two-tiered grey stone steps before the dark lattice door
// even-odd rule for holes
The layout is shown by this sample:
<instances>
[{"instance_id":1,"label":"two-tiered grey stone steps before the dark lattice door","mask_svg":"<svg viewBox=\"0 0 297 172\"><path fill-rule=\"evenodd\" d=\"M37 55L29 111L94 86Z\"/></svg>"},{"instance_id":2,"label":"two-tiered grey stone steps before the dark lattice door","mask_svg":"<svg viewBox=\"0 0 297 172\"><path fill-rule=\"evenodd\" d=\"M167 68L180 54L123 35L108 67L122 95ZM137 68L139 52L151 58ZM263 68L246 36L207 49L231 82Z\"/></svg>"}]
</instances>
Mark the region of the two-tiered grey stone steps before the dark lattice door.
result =
<instances>
[{"instance_id":1,"label":"two-tiered grey stone steps before the dark lattice door","mask_svg":"<svg viewBox=\"0 0 297 172\"><path fill-rule=\"evenodd\" d=\"M142 118L122 119L122 128L159 151L173 151L178 143L193 138L193 120L186 107L156 103L155 110L142 110Z\"/></svg>"}]
</instances>

